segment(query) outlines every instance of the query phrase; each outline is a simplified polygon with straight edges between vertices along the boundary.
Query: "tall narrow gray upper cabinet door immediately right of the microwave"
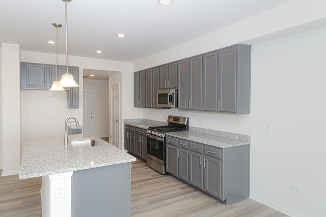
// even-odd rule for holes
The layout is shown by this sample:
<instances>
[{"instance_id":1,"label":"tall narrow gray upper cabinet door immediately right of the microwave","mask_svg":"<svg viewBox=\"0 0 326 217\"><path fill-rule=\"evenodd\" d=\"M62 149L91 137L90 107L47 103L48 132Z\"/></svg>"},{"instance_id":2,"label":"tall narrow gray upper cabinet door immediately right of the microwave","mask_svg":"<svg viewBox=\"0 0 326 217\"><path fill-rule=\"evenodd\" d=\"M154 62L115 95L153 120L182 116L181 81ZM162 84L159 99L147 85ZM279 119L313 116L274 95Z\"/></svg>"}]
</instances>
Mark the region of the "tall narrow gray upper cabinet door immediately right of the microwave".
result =
<instances>
[{"instance_id":1,"label":"tall narrow gray upper cabinet door immediately right of the microwave","mask_svg":"<svg viewBox=\"0 0 326 217\"><path fill-rule=\"evenodd\" d=\"M189 102L189 60L178 61L179 89L178 89L178 108L188 109Z\"/></svg>"}]
</instances>

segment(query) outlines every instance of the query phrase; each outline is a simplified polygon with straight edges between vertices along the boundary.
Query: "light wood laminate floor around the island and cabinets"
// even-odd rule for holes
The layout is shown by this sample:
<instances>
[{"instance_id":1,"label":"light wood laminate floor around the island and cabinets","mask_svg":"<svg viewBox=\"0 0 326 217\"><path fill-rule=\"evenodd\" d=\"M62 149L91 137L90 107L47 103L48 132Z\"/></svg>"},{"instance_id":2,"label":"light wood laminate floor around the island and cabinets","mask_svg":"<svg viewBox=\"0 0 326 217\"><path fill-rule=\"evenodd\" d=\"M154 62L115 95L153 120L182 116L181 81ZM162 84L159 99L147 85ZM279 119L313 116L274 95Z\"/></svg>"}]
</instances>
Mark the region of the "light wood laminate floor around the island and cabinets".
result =
<instances>
[{"instance_id":1,"label":"light wood laminate floor around the island and cabinets","mask_svg":"<svg viewBox=\"0 0 326 217\"><path fill-rule=\"evenodd\" d=\"M132 163L131 171L134 217L287 216L251 199L226 206L171 175L159 174L140 159ZM23 180L17 175L0 177L0 216L42 216L40 188L41 177Z\"/></svg>"}]
</instances>

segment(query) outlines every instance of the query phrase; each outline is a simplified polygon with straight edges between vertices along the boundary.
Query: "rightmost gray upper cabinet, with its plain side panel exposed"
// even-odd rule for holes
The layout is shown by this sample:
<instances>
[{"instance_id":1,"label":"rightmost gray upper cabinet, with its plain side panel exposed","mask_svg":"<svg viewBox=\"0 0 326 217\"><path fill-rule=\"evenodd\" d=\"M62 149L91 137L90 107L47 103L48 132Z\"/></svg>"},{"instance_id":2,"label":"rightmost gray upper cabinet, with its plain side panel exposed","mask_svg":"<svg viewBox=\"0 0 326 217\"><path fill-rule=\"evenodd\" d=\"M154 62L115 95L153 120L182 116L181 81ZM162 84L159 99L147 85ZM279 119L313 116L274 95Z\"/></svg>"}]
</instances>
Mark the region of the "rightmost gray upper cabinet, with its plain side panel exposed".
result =
<instances>
[{"instance_id":1,"label":"rightmost gray upper cabinet, with its plain side panel exposed","mask_svg":"<svg viewBox=\"0 0 326 217\"><path fill-rule=\"evenodd\" d=\"M251 46L219 51L218 111L250 113Z\"/></svg>"}]
</instances>

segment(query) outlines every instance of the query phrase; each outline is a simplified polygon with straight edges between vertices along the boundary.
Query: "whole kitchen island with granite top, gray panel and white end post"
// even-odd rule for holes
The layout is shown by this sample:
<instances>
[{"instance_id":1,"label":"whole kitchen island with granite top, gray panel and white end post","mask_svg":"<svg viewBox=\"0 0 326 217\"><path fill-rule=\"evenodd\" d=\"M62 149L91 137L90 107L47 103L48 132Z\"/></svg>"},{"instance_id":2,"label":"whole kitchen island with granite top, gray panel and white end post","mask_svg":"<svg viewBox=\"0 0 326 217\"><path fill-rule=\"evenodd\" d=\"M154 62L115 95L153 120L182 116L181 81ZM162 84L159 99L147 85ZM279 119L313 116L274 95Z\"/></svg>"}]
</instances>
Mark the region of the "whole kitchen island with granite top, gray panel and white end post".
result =
<instances>
[{"instance_id":1,"label":"whole kitchen island with granite top, gray panel and white end post","mask_svg":"<svg viewBox=\"0 0 326 217\"><path fill-rule=\"evenodd\" d=\"M93 135L69 135L88 139L95 146L64 145L60 136L24 142L19 179L42 176L43 216L130 216L136 158Z\"/></svg>"}]
</instances>

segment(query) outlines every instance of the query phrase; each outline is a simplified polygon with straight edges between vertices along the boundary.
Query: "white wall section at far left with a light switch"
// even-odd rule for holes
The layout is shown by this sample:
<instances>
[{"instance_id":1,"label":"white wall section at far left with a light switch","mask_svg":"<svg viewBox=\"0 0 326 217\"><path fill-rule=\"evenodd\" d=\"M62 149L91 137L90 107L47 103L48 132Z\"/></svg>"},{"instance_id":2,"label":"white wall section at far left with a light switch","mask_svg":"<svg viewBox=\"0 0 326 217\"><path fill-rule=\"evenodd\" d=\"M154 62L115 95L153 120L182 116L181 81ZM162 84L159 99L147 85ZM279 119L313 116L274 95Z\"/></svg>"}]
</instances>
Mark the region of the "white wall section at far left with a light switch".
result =
<instances>
[{"instance_id":1,"label":"white wall section at far left with a light switch","mask_svg":"<svg viewBox=\"0 0 326 217\"><path fill-rule=\"evenodd\" d=\"M20 166L19 53L19 45L2 43L2 176L18 173Z\"/></svg>"}]
</instances>

